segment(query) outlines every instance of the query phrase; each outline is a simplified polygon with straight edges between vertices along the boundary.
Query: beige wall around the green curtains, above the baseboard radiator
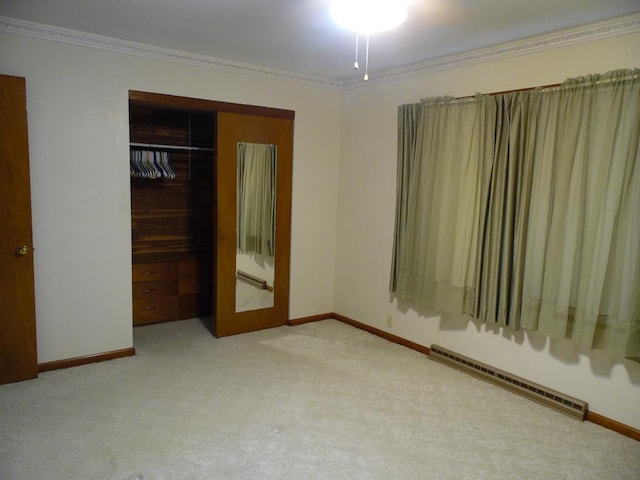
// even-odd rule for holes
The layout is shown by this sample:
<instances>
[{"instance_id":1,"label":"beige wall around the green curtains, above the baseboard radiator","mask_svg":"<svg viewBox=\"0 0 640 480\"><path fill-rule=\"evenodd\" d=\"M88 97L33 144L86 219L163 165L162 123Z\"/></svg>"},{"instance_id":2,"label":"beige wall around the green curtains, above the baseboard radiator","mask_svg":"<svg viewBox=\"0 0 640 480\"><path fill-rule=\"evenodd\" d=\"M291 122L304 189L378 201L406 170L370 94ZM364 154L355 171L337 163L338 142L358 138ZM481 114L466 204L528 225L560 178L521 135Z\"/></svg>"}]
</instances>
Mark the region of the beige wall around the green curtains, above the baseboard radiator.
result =
<instances>
[{"instance_id":1,"label":"beige wall around the green curtains, above the baseboard radiator","mask_svg":"<svg viewBox=\"0 0 640 480\"><path fill-rule=\"evenodd\" d=\"M388 293L398 105L637 67L638 45L640 34L631 34L345 90L335 311L419 344L438 344L495 365L586 400L593 411L640 428L640 364L602 352L579 352L567 342L491 332L465 318L416 311L413 305L398 305Z\"/></svg>"}]
</instances>

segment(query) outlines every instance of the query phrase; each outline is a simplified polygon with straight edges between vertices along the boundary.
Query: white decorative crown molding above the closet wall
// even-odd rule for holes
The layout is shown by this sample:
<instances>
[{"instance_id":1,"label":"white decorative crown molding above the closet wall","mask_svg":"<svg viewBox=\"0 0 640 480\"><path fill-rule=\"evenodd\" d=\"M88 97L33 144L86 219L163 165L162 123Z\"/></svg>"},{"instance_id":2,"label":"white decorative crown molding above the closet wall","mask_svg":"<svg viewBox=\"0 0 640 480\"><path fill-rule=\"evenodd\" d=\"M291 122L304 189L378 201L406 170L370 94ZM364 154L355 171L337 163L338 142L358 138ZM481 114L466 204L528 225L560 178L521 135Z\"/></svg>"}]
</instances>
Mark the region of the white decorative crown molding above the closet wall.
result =
<instances>
[{"instance_id":1,"label":"white decorative crown molding above the closet wall","mask_svg":"<svg viewBox=\"0 0 640 480\"><path fill-rule=\"evenodd\" d=\"M67 28L54 27L51 25L29 22L11 17L0 16L0 31L81 47L96 48L98 50L106 50L125 55L134 55L138 57L180 63L212 70L222 70L230 73L250 75L314 87L340 89L342 86L341 81L332 78L305 75L297 72L289 72L286 70L234 62L222 58L209 57L207 55L199 55L181 50L158 47L155 45L131 42L128 40L95 35Z\"/></svg>"}]
</instances>

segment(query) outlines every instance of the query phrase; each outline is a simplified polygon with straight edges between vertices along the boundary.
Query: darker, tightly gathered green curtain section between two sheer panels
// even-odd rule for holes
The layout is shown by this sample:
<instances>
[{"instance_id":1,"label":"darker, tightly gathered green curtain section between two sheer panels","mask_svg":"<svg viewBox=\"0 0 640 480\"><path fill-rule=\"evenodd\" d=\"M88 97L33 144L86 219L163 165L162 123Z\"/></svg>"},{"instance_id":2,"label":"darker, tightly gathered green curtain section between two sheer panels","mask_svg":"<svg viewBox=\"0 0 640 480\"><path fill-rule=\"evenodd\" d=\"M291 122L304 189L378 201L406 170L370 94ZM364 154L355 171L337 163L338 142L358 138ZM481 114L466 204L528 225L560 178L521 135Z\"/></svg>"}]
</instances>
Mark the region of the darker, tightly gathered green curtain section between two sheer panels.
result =
<instances>
[{"instance_id":1,"label":"darker, tightly gathered green curtain section between two sheer panels","mask_svg":"<svg viewBox=\"0 0 640 480\"><path fill-rule=\"evenodd\" d=\"M538 91L497 95L491 178L480 225L474 316L520 328Z\"/></svg>"}]
</instances>

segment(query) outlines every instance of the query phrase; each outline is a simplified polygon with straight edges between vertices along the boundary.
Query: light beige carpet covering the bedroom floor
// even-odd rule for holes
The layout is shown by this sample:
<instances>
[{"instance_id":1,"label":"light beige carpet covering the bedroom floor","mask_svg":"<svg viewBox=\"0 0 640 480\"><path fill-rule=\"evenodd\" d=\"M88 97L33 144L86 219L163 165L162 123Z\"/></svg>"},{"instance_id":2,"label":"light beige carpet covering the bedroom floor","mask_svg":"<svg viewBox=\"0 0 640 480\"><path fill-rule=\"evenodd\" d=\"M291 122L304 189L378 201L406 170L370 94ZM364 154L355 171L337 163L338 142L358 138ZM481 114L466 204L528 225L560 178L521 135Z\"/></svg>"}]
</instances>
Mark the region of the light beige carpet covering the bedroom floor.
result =
<instances>
[{"instance_id":1,"label":"light beige carpet covering the bedroom floor","mask_svg":"<svg viewBox=\"0 0 640 480\"><path fill-rule=\"evenodd\" d=\"M333 320L134 334L135 357L0 387L0 478L640 478L640 442Z\"/></svg>"}]
</instances>

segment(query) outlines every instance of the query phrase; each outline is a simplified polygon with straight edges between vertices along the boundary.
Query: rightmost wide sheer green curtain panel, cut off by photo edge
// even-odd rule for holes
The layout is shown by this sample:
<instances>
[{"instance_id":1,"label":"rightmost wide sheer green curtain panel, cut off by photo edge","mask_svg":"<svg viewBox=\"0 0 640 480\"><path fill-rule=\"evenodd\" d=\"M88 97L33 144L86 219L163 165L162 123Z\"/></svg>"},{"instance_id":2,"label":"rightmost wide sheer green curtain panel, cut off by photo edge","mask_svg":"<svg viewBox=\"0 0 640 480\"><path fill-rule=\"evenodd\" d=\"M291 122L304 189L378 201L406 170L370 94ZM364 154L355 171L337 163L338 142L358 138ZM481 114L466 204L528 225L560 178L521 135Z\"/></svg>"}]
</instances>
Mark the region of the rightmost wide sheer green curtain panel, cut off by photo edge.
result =
<instances>
[{"instance_id":1,"label":"rightmost wide sheer green curtain panel, cut off by photo edge","mask_svg":"<svg viewBox=\"0 0 640 480\"><path fill-rule=\"evenodd\" d=\"M522 326L640 356L640 71L540 95Z\"/></svg>"}]
</instances>

